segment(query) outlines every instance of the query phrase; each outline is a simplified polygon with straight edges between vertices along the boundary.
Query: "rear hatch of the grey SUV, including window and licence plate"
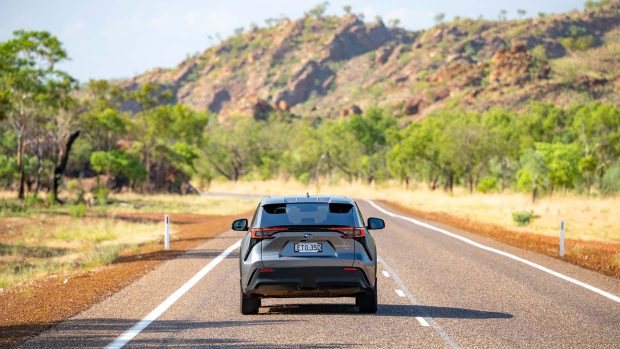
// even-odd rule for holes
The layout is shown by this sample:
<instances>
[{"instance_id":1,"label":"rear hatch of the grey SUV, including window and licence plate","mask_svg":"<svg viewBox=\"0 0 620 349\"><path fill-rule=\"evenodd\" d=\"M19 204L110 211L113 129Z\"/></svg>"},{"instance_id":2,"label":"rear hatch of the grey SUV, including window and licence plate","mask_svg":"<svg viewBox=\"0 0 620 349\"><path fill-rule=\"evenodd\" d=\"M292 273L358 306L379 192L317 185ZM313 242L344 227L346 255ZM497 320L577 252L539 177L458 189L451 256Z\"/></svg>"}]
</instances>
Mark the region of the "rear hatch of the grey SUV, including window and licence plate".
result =
<instances>
[{"instance_id":1,"label":"rear hatch of the grey SUV, including window and licence plate","mask_svg":"<svg viewBox=\"0 0 620 349\"><path fill-rule=\"evenodd\" d=\"M363 234L349 203L283 203L264 205L255 233L262 235L267 268L351 267L355 236Z\"/></svg>"}]
</instances>

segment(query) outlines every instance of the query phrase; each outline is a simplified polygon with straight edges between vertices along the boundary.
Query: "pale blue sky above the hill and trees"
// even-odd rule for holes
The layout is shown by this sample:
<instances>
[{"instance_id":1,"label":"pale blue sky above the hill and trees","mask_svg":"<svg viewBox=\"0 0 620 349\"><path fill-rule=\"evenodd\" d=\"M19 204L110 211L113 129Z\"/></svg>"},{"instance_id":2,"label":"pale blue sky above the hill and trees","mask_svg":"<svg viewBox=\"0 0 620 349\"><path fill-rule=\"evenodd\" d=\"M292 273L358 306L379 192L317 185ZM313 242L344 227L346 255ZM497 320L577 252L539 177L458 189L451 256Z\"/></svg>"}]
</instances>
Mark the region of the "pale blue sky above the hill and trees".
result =
<instances>
[{"instance_id":1,"label":"pale blue sky above the hill and trees","mask_svg":"<svg viewBox=\"0 0 620 349\"><path fill-rule=\"evenodd\" d=\"M0 41L16 29L48 30L65 44L71 61L62 68L84 82L122 78L154 67L172 67L188 54L212 45L209 36L285 15L297 18L321 1L302 0L0 0ZM401 26L423 29L437 13L497 18L501 9L516 17L583 8L584 0L332 0L328 13L344 5L372 19L399 18Z\"/></svg>"}]
</instances>

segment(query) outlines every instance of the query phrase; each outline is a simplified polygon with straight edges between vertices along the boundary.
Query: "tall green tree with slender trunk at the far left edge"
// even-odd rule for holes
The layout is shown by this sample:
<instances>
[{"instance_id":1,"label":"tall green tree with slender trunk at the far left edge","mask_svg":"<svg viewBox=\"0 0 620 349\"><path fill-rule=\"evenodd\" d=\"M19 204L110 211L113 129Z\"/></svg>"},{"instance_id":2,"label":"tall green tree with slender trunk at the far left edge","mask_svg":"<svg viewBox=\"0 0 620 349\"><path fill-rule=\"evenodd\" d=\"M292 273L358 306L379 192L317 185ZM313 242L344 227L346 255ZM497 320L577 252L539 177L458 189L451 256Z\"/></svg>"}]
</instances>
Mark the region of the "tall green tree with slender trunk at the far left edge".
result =
<instances>
[{"instance_id":1,"label":"tall green tree with slender trunk at the far left edge","mask_svg":"<svg viewBox=\"0 0 620 349\"><path fill-rule=\"evenodd\" d=\"M49 111L59 97L74 88L75 81L56 69L67 59L56 37L46 31L23 30L13 32L13 36L0 44L0 100L5 110L2 114L9 118L17 135L18 197L23 199L28 135L37 133L42 120L50 117L42 111Z\"/></svg>"}]
</instances>

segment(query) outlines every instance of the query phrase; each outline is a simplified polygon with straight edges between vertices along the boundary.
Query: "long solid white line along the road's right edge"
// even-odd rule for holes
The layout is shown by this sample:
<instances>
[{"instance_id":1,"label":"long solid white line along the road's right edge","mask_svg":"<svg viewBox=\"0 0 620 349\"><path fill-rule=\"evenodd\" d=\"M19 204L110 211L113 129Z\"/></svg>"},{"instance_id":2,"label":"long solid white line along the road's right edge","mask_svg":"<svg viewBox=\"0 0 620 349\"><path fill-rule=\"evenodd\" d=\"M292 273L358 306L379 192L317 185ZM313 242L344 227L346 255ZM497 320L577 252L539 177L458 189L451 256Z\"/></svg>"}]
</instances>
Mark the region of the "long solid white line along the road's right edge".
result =
<instances>
[{"instance_id":1,"label":"long solid white line along the road's right edge","mask_svg":"<svg viewBox=\"0 0 620 349\"><path fill-rule=\"evenodd\" d=\"M517 261L517 262L521 262L521 263L523 263L523 264L529 265L530 267L533 267L533 268L536 268L536 269L538 269L538 270L544 271L545 273L551 274L551 275L553 275L553 276L555 276L555 277L558 277L558 278L560 278L560 279L562 279L562 280L568 281L568 282L573 283L573 284L575 284L575 285L577 285L577 286L581 286L581 287L583 287L583 288L585 288L585 289L587 289L587 290L590 290L590 291L592 291L592 292L598 293L599 295L601 295L601 296L603 296L603 297L606 297L606 298L609 298L609 299L611 299L611 300L612 300L612 301L614 301L614 302L620 303L620 297L618 297L618 296L616 296L616 295L614 295L614 294L612 294L612 293L609 293L609 292L607 292L607 291L603 291L603 290L601 290L601 289L599 289L599 288L596 288L596 287L594 287L594 286L592 286L592 285L590 285L590 284L586 284L586 283L585 283L585 282L583 282L583 281L579 281L579 280L577 280L577 279L573 279L573 278L572 278L572 277L570 277L570 276L566 276L566 275L564 275L564 274L558 273L557 271L554 271L554 270L551 270L551 269L549 269L549 268L543 267L542 265L540 265L540 264L536 264L536 263L534 263L534 262L532 262L532 261L529 261L529 260L527 260L527 259L525 259L525 258L517 257L517 256L515 256L515 255L513 255L513 254L508 253L508 252L504 252L504 251L501 251L501 250L498 250L498 249L495 249L495 248L492 248L492 247L489 247L489 246L483 245L483 244L481 244L481 243L475 242L475 241L470 240L470 239L468 239L468 238L466 238L466 237L463 237L463 236L461 236L461 235L458 235L458 234L455 234L455 233L451 233L451 232L449 232L449 231L447 231L447 230L445 230L445 229L437 228L437 227L435 227L435 226L433 226L433 225L430 225L430 224L428 224L428 223L425 223L425 222L419 221L419 220L417 220L417 219L413 219L413 218L411 218L411 217L401 216L401 215L399 215L399 214L392 213L392 212L390 212L390 211L388 211L388 210L384 209L383 207L381 207L381 206L377 205L377 204L376 204L376 203L374 203L372 200L366 200L366 201L367 201L367 202L368 202L368 203L369 203L372 207L374 207L374 208L376 208L377 210L379 210L379 211L381 211L381 212L385 213L385 214L386 214L386 215L388 215L388 216L391 216L391 217L394 217L394 218L399 218L399 219L402 219L402 220L408 221L408 222L410 222L410 223L413 223L413 224L419 225L419 226L421 226L421 227L424 227L424 228L427 228L427 229L430 229L430 230L434 230L434 231L436 231L436 232L438 232L438 233L441 233L441 234L447 235L447 236L449 236L449 237L451 237L451 238L454 238L454 239L457 239L457 240L461 240L461 241L463 241L463 242L465 242L465 243L467 243L467 244L470 244L470 245L472 245L472 246L478 247L478 248L480 248L480 249L482 249L482 250L489 251L489 252L492 252L492 253L496 253L496 254L502 255L502 256L504 256L504 257L508 257L508 258L513 259L513 260L515 260L515 261Z\"/></svg>"}]
</instances>

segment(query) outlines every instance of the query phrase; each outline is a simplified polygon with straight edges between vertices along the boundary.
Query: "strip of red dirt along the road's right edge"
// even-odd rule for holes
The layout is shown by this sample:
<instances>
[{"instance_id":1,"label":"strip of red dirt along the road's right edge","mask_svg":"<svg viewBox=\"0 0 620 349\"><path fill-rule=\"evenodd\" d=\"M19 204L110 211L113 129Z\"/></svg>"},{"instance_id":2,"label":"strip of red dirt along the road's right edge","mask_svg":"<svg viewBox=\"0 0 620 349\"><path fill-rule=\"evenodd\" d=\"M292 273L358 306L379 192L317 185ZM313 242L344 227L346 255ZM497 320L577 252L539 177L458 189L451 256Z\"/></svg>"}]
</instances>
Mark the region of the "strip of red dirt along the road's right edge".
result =
<instances>
[{"instance_id":1,"label":"strip of red dirt along the road's right edge","mask_svg":"<svg viewBox=\"0 0 620 349\"><path fill-rule=\"evenodd\" d=\"M614 264L614 257L620 254L619 243L566 239L565 254L564 257L560 257L558 255L558 238L518 232L498 225L480 223L446 213L420 211L389 201L381 201L381 204L398 212L487 236L511 246L542 253L620 279L620 265Z\"/></svg>"}]
</instances>

